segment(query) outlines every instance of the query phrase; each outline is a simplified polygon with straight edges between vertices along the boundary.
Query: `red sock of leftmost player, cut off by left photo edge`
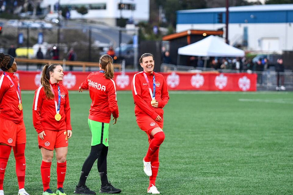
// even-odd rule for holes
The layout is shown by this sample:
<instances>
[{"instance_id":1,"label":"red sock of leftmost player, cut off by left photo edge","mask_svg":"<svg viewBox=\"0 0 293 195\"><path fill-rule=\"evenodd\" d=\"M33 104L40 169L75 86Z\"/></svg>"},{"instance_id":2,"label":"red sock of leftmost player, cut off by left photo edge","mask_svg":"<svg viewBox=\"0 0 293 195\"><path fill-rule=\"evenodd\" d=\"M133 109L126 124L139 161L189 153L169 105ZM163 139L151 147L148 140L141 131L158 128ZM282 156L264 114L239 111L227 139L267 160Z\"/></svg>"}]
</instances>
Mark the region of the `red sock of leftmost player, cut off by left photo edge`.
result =
<instances>
[{"instance_id":1,"label":"red sock of leftmost player, cut off by left photo edge","mask_svg":"<svg viewBox=\"0 0 293 195\"><path fill-rule=\"evenodd\" d=\"M3 190L3 180L11 146L0 145L0 190Z\"/></svg>"}]
</instances>

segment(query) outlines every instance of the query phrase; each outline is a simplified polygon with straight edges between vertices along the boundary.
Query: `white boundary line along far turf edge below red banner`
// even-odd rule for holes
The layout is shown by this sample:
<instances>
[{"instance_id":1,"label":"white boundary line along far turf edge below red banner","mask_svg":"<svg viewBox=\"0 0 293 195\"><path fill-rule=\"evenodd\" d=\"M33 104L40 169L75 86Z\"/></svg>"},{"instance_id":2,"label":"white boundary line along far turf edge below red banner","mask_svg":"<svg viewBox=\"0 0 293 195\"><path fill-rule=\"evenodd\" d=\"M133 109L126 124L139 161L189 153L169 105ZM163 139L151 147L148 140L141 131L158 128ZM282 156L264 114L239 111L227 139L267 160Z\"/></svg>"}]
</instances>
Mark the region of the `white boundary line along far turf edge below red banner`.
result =
<instances>
[{"instance_id":1,"label":"white boundary line along far turf edge below red banner","mask_svg":"<svg viewBox=\"0 0 293 195\"><path fill-rule=\"evenodd\" d=\"M34 94L34 91L21 91L22 94ZM68 91L69 94L78 94L76 91ZM131 91L117 91L118 94L131 94ZM243 91L169 91L169 94L290 94L292 92L284 91L255 91L255 92L243 92ZM81 94L89 94L88 90L84 90Z\"/></svg>"}]
</instances>

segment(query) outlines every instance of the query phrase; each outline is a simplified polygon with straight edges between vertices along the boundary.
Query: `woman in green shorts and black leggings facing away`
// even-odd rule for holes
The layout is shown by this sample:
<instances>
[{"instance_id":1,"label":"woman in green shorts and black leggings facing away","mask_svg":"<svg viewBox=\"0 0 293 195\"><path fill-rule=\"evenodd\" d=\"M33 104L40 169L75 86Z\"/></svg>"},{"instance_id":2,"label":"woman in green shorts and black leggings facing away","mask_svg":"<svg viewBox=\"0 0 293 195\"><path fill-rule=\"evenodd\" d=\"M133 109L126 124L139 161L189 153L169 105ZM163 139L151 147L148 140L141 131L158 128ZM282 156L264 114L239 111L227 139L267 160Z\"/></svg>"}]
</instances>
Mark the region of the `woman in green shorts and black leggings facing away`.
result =
<instances>
[{"instance_id":1,"label":"woman in green shorts and black leggings facing away","mask_svg":"<svg viewBox=\"0 0 293 195\"><path fill-rule=\"evenodd\" d=\"M116 124L119 112L116 98L116 85L114 77L113 59L110 55L102 55L99 60L100 71L90 73L81 83L79 92L84 89L89 90L92 99L89 109L89 129L92 132L91 151L81 168L81 176L74 191L75 194L96 194L90 190L85 181L92 169L92 165L98 159L98 171L101 178L100 193L120 193L121 190L115 188L108 182L107 178L107 154L109 142L109 124L111 114L114 124Z\"/></svg>"}]
</instances>

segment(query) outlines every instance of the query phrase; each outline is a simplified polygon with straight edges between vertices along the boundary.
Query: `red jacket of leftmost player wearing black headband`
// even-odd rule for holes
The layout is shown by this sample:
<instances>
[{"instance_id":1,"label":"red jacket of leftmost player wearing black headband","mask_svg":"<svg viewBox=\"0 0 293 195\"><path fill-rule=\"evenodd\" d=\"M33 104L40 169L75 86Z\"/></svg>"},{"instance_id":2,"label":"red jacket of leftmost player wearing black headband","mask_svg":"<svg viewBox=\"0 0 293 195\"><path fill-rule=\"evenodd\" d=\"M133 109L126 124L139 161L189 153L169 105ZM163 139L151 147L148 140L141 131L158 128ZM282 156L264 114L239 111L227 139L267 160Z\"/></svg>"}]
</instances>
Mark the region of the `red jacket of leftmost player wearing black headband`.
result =
<instances>
[{"instance_id":1,"label":"red jacket of leftmost player wearing black headband","mask_svg":"<svg viewBox=\"0 0 293 195\"><path fill-rule=\"evenodd\" d=\"M13 73L5 74L9 75L14 86L4 73L0 75L0 117L18 124L23 120L22 110L18 109L19 100L16 93L19 81ZM21 97L21 94L19 95Z\"/></svg>"}]
</instances>

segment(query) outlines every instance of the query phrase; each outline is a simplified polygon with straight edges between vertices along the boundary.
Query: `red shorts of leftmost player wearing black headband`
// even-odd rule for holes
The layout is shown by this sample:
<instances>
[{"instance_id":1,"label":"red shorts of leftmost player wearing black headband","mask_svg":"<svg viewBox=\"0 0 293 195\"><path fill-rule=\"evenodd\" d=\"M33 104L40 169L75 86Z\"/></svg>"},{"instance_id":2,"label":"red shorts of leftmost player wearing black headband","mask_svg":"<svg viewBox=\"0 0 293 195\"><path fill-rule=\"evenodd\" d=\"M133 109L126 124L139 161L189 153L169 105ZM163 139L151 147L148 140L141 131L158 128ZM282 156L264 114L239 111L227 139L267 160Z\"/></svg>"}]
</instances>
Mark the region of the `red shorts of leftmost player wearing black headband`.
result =
<instances>
[{"instance_id":1,"label":"red shorts of leftmost player wearing black headband","mask_svg":"<svg viewBox=\"0 0 293 195\"><path fill-rule=\"evenodd\" d=\"M16 124L13 121L0 117L0 143L7 144L9 146L15 146L15 144L25 144L26 134L24 121Z\"/></svg>"}]
</instances>

